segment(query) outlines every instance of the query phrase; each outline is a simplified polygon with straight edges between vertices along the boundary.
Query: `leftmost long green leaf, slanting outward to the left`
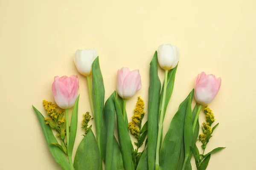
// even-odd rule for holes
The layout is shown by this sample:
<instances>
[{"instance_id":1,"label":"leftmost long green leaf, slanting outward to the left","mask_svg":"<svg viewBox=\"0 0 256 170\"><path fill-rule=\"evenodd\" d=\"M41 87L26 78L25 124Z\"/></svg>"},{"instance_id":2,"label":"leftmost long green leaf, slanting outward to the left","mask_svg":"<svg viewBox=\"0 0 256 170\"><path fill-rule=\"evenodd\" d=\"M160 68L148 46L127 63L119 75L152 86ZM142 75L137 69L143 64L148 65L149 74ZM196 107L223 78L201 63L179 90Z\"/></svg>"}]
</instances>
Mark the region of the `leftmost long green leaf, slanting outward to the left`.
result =
<instances>
[{"instance_id":1,"label":"leftmost long green leaf, slanting outward to the left","mask_svg":"<svg viewBox=\"0 0 256 170\"><path fill-rule=\"evenodd\" d=\"M32 106L36 116L38 117L39 123L42 127L45 140L49 147L50 152L52 153L53 158L55 161L61 165L63 170L71 170L70 164L67 161L67 157L63 153L63 151L56 145L52 144L52 142L58 143L57 139L52 133L51 127L45 125L44 116L34 107Z\"/></svg>"}]
</instances>

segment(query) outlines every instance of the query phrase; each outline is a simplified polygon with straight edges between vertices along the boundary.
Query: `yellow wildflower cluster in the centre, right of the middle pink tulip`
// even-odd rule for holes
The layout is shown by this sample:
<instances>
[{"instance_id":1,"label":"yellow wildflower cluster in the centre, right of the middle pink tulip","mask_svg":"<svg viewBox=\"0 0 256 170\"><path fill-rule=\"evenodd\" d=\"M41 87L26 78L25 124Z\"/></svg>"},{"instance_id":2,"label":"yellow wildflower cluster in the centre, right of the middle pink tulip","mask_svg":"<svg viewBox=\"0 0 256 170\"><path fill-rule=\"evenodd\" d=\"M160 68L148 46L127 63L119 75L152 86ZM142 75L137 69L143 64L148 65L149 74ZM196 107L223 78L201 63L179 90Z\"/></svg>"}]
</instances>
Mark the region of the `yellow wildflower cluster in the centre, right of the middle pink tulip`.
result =
<instances>
[{"instance_id":1,"label":"yellow wildflower cluster in the centre, right of the middle pink tulip","mask_svg":"<svg viewBox=\"0 0 256 170\"><path fill-rule=\"evenodd\" d=\"M137 139L140 138L141 122L144 115L144 101L139 96L137 99L136 107L134 109L134 116L132 116L132 122L129 122L128 125L131 134Z\"/></svg>"}]
</instances>

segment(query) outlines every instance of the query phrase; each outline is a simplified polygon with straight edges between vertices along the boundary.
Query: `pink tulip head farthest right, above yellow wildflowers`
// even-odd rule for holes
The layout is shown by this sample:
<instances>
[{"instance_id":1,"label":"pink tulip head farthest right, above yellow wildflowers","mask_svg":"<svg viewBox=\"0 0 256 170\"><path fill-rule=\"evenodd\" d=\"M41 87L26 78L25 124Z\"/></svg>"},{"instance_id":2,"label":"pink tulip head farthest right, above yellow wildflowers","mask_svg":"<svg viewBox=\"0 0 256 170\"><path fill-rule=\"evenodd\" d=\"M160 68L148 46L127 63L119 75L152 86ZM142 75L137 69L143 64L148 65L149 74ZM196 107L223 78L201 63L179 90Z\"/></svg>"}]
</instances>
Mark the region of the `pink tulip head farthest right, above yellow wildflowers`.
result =
<instances>
[{"instance_id":1,"label":"pink tulip head farthest right, above yellow wildflowers","mask_svg":"<svg viewBox=\"0 0 256 170\"><path fill-rule=\"evenodd\" d=\"M205 72L195 78L195 99L200 105L207 105L214 99L221 87L221 78Z\"/></svg>"}]
</instances>

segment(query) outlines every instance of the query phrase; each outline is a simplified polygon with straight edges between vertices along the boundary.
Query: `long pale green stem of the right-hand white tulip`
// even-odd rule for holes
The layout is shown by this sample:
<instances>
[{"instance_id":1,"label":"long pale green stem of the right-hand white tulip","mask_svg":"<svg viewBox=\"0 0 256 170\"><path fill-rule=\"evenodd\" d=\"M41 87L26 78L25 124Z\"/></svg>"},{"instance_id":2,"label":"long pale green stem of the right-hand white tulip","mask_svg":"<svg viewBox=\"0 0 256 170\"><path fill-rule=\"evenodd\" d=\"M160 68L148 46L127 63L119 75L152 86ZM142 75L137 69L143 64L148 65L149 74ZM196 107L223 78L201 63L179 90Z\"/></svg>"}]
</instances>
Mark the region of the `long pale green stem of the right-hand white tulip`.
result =
<instances>
[{"instance_id":1,"label":"long pale green stem of the right-hand white tulip","mask_svg":"<svg viewBox=\"0 0 256 170\"><path fill-rule=\"evenodd\" d=\"M158 121L158 135L157 135L157 150L156 150L155 170L159 170L160 142L161 142L161 134L162 134L162 130L163 130L163 111L164 111L165 100L166 100L167 77L168 77L168 70L165 71L165 76L164 76L163 101L162 101L162 106L161 106L161 111L160 111L160 119Z\"/></svg>"}]
</instances>

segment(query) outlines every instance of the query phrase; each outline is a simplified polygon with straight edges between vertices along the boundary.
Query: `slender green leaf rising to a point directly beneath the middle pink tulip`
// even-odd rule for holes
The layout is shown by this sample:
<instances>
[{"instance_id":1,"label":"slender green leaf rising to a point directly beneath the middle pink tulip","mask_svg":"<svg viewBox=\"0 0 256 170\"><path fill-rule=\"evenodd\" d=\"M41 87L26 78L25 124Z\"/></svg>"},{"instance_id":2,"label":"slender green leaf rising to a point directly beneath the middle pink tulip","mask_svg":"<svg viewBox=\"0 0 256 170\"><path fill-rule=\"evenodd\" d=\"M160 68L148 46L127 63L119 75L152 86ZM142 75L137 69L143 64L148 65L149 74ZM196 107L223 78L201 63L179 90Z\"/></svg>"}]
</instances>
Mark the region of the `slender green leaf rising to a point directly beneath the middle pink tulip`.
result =
<instances>
[{"instance_id":1,"label":"slender green leaf rising to a point directly beneath the middle pink tulip","mask_svg":"<svg viewBox=\"0 0 256 170\"><path fill-rule=\"evenodd\" d=\"M118 138L119 138L120 150L122 153L123 164L124 164L125 170L133 170L134 169L134 164L132 160L133 145L131 143L129 131L127 130L127 127L125 125L125 120L122 116L121 107L117 102L116 98L114 98L114 101L115 101L115 108L116 108Z\"/></svg>"}]
</instances>

